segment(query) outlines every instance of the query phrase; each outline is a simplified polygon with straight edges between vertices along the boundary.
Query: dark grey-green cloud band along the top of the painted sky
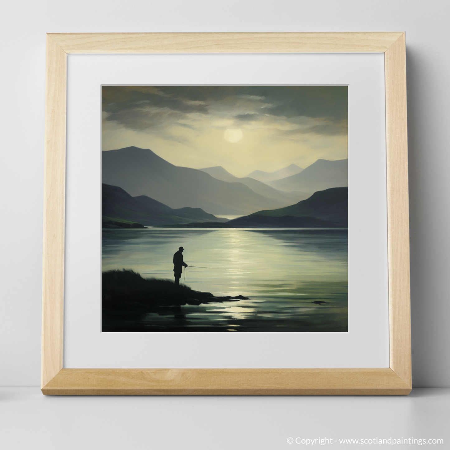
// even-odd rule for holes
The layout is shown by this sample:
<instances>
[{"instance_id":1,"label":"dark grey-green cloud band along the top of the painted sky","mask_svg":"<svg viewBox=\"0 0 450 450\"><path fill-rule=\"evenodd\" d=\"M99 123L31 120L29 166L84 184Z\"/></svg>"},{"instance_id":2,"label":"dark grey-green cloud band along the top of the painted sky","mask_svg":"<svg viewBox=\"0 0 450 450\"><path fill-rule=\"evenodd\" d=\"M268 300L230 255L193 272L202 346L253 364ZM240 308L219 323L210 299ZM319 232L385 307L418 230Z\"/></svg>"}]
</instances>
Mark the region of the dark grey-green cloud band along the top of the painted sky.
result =
<instances>
[{"instance_id":1,"label":"dark grey-green cloud band along the top of the painted sky","mask_svg":"<svg viewBox=\"0 0 450 450\"><path fill-rule=\"evenodd\" d=\"M182 121L193 113L214 111L243 122L309 117L323 123L297 132L338 135L347 133L347 92L347 86L103 86L103 111L106 120L135 130L187 126Z\"/></svg>"}]
</instances>

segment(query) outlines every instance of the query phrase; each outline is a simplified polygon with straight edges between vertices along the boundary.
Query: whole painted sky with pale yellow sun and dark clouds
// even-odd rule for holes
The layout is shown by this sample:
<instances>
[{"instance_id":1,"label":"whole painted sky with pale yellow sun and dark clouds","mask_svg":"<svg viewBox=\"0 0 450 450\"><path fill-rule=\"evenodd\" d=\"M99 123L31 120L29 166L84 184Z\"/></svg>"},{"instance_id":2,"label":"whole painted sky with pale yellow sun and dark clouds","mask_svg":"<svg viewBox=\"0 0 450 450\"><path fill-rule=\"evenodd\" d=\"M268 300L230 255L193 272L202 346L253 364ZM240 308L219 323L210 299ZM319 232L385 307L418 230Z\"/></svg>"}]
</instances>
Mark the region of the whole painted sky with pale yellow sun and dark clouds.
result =
<instances>
[{"instance_id":1,"label":"whole painted sky with pale yellow sun and dark clouds","mask_svg":"<svg viewBox=\"0 0 450 450\"><path fill-rule=\"evenodd\" d=\"M103 86L102 149L243 177L347 158L347 86Z\"/></svg>"}]
</instances>

